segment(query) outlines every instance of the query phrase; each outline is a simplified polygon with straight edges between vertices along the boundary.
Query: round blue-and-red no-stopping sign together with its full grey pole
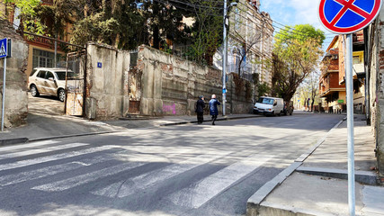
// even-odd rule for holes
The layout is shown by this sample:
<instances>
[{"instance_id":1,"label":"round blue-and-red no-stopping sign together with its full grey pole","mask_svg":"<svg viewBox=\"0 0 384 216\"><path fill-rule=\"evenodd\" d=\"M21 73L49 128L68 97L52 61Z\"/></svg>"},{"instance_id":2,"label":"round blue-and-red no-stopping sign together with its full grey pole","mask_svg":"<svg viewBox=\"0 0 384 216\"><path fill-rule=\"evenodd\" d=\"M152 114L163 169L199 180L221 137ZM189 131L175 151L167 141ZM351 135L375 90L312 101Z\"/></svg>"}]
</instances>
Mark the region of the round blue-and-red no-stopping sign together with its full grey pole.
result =
<instances>
[{"instance_id":1,"label":"round blue-and-red no-stopping sign together with its full grey pole","mask_svg":"<svg viewBox=\"0 0 384 216\"><path fill-rule=\"evenodd\" d=\"M355 215L354 134L353 134L353 37L380 14L381 0L320 0L318 16L327 30L346 34L345 87L347 101L348 146L348 204L350 215Z\"/></svg>"}]
</instances>

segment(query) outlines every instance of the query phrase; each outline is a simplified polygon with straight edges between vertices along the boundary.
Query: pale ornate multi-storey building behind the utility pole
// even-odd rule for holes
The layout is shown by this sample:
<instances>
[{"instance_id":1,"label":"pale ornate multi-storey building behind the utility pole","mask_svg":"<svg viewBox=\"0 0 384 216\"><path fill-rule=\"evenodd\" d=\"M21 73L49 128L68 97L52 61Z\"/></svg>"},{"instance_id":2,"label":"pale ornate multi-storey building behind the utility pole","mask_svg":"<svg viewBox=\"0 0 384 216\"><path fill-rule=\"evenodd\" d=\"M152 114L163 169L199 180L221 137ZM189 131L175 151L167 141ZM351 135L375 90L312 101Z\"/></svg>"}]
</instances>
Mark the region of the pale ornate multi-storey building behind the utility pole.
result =
<instances>
[{"instance_id":1,"label":"pale ornate multi-storey building behind the utility pole","mask_svg":"<svg viewBox=\"0 0 384 216\"><path fill-rule=\"evenodd\" d=\"M272 72L263 62L272 59L273 31L270 15L260 11L260 0L240 0L229 13L227 73L250 81L258 74L259 82L272 86ZM219 69L221 55L217 52L213 61Z\"/></svg>"}]
</instances>

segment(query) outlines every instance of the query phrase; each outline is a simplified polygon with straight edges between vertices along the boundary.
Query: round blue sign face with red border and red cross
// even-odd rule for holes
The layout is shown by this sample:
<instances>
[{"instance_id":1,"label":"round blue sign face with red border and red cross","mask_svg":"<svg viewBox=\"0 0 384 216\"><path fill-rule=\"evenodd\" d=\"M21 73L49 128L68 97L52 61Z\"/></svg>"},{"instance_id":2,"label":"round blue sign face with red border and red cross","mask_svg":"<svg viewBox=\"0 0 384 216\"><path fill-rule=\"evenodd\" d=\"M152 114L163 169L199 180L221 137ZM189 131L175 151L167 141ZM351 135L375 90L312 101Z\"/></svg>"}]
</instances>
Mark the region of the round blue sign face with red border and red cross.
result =
<instances>
[{"instance_id":1,"label":"round blue sign face with red border and red cross","mask_svg":"<svg viewBox=\"0 0 384 216\"><path fill-rule=\"evenodd\" d=\"M380 14L381 0L320 0L318 14L329 31L360 31Z\"/></svg>"}]
</instances>

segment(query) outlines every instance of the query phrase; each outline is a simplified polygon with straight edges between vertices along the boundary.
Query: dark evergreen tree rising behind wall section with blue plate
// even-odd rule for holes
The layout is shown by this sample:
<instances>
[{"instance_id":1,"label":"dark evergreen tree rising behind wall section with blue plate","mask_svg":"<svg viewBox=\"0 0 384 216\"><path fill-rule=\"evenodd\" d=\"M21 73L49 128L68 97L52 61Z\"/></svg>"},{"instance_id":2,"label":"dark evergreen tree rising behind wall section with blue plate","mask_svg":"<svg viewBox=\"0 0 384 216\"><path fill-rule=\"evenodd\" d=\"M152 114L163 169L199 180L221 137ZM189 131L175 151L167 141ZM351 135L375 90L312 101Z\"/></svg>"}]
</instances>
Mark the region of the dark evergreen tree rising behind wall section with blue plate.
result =
<instances>
[{"instance_id":1,"label":"dark evergreen tree rising behind wall section with blue plate","mask_svg":"<svg viewBox=\"0 0 384 216\"><path fill-rule=\"evenodd\" d=\"M97 41L119 49L147 44L147 26L135 0L85 1L78 5L71 42Z\"/></svg>"}]
</instances>

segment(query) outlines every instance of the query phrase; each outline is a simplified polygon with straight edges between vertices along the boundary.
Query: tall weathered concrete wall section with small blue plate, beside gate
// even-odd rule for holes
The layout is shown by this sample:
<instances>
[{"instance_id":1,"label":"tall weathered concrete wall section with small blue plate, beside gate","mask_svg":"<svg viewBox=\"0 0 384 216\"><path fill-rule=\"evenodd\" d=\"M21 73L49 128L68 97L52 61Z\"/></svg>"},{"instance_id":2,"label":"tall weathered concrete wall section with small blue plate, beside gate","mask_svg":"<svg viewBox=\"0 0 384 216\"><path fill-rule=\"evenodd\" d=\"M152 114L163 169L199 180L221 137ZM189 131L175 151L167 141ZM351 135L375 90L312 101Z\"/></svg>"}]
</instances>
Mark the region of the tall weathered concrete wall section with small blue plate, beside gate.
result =
<instances>
[{"instance_id":1,"label":"tall weathered concrete wall section with small blue plate, beside gate","mask_svg":"<svg viewBox=\"0 0 384 216\"><path fill-rule=\"evenodd\" d=\"M127 77L129 52L111 46L88 43L86 53L89 119L113 119L128 111ZM98 67L101 64L101 67Z\"/></svg>"}]
</instances>

